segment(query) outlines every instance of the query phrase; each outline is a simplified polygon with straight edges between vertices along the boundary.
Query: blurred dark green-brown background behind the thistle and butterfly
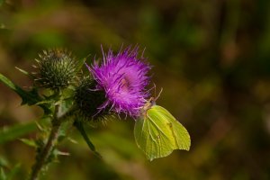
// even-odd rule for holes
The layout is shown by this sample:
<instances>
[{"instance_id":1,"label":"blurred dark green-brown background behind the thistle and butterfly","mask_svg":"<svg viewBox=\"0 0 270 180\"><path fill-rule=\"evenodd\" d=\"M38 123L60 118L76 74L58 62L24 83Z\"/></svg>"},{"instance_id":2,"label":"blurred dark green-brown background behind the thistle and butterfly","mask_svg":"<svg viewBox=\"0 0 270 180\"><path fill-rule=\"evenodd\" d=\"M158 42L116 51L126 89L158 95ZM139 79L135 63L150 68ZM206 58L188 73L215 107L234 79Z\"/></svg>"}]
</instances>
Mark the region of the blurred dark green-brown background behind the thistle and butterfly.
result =
<instances>
[{"instance_id":1,"label":"blurred dark green-brown background behind the thistle and butterfly","mask_svg":"<svg viewBox=\"0 0 270 180\"><path fill-rule=\"evenodd\" d=\"M93 156L76 130L60 149L69 157L43 179L270 179L270 1L268 0L0 0L0 72L18 85L31 81L42 49L65 47L87 62L104 49L139 44L153 65L157 103L175 115L192 138L152 162L137 148L134 121L109 121L88 135L103 155ZM20 106L0 84L1 128L35 121L41 111ZM31 134L34 138L35 135ZM34 149L20 140L0 145L0 164L22 163ZM8 169L5 169L8 170Z\"/></svg>"}]
</instances>

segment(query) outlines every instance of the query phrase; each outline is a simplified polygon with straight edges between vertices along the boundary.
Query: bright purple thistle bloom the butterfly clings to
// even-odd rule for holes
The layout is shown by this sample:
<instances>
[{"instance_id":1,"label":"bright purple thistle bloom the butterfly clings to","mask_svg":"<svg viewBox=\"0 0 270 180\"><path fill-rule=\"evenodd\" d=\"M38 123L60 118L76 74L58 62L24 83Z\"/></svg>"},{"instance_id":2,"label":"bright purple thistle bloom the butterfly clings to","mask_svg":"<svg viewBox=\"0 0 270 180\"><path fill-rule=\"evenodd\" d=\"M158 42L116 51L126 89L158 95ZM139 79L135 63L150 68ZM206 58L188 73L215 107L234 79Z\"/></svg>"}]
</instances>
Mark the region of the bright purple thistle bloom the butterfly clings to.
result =
<instances>
[{"instance_id":1,"label":"bright purple thistle bloom the butterfly clings to","mask_svg":"<svg viewBox=\"0 0 270 180\"><path fill-rule=\"evenodd\" d=\"M139 116L139 109L149 95L146 86L150 67L142 62L142 56L138 58L138 49L138 46L134 49L128 47L117 55L109 49L107 54L103 52L101 65L94 62L92 67L88 67L97 82L96 90L103 90L106 95L107 100L99 107L100 111L111 108L114 112Z\"/></svg>"}]
</instances>

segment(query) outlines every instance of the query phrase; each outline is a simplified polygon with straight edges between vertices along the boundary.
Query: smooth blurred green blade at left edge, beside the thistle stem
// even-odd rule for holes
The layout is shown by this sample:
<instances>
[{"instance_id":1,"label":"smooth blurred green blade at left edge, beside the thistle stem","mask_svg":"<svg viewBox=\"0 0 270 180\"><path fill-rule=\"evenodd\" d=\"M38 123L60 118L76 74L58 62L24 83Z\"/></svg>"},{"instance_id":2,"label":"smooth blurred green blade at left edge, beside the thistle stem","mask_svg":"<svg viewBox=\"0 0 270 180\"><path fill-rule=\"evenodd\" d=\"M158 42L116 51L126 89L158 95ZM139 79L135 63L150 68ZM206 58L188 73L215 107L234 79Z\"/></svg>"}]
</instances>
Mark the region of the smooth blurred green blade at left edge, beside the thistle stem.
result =
<instances>
[{"instance_id":1,"label":"smooth blurred green blade at left edge, beside the thistle stem","mask_svg":"<svg viewBox=\"0 0 270 180\"><path fill-rule=\"evenodd\" d=\"M0 144L18 139L25 134L37 130L37 125L34 121L29 123L17 124L10 127L0 129Z\"/></svg>"}]
</instances>

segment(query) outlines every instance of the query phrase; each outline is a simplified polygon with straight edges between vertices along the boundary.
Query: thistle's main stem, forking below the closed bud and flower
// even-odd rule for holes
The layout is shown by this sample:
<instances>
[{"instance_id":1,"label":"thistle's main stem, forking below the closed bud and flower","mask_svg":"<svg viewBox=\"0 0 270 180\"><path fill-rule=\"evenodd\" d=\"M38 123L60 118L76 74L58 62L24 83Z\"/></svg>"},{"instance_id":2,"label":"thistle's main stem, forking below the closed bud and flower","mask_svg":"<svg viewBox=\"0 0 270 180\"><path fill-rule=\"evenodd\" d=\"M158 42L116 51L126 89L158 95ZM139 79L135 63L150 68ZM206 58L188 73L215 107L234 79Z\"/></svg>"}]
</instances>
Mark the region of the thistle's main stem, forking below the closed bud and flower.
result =
<instances>
[{"instance_id":1,"label":"thistle's main stem, forking below the closed bud and flower","mask_svg":"<svg viewBox=\"0 0 270 180\"><path fill-rule=\"evenodd\" d=\"M42 167L46 164L46 161L51 153L51 150L56 146L58 139L58 130L60 129L60 125L63 121L67 119L73 112L73 108L71 108L68 112L58 117L58 105L56 106L55 113L52 120L52 128L49 133L49 139L41 149L40 154L37 155L35 164L31 167L31 175L29 180L37 180L40 174Z\"/></svg>"}]
</instances>

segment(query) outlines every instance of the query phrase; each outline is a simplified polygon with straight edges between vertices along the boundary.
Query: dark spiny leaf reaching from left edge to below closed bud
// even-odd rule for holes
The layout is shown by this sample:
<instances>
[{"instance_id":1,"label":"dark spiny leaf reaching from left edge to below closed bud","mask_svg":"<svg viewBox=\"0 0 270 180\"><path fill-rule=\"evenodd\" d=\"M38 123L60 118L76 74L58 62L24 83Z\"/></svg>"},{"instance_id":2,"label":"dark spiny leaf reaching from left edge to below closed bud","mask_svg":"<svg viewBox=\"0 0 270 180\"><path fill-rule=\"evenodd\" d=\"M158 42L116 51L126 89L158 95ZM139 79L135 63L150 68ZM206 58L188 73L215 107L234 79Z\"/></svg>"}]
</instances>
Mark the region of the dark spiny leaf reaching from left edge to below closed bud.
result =
<instances>
[{"instance_id":1,"label":"dark spiny leaf reaching from left edge to below closed bud","mask_svg":"<svg viewBox=\"0 0 270 180\"><path fill-rule=\"evenodd\" d=\"M0 73L0 81L10 87L14 92L22 98L22 105L28 104L33 105L41 102L43 99L38 94L37 89L33 88L31 91L25 91L20 86L15 85L10 79ZM45 114L49 114L50 110L45 104L39 104L39 106L43 109Z\"/></svg>"}]
</instances>

